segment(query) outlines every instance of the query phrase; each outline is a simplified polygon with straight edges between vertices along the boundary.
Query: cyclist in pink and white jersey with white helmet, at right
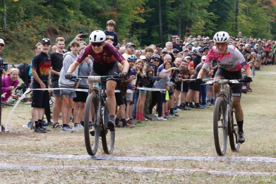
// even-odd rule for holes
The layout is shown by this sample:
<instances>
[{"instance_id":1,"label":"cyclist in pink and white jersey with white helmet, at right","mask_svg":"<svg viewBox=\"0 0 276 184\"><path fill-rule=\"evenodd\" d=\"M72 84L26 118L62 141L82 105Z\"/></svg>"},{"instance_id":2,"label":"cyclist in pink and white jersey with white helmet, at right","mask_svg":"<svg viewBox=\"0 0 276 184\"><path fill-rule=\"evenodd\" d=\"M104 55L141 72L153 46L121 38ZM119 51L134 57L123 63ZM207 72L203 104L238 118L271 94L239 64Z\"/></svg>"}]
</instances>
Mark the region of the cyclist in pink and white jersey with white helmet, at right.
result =
<instances>
[{"instance_id":1,"label":"cyclist in pink and white jersey with white helmet, at right","mask_svg":"<svg viewBox=\"0 0 276 184\"><path fill-rule=\"evenodd\" d=\"M215 59L219 66L216 74L214 76L214 80L219 80L221 78L225 79L241 79L241 67L246 70L246 77L244 81L250 83L252 82L252 73L251 70L246 63L241 52L234 46L229 45L230 36L227 32L220 31L214 35L214 42L216 43L216 47L213 47L207 54L206 60L198 73L198 77L196 79L197 84L202 83L202 78L208 69L208 66L212 59ZM241 84L229 84L232 91L232 101L233 107L235 109L235 117L237 120L237 126L239 127L239 143L244 143L245 136L243 131L243 123L244 123L244 114L241 108ZM216 93L220 91L220 85L218 83L214 83L214 97Z\"/></svg>"}]
</instances>

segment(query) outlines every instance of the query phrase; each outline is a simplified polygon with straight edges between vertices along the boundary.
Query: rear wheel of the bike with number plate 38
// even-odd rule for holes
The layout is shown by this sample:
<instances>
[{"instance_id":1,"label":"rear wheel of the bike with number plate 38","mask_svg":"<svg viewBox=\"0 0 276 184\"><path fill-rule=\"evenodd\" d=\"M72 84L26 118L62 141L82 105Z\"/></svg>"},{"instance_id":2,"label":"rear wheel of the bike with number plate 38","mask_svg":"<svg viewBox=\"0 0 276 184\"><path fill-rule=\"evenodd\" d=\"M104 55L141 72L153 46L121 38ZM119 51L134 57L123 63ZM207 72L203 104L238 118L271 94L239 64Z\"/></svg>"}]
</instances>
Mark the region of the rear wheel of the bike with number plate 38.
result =
<instances>
[{"instance_id":1,"label":"rear wheel of the bike with number plate 38","mask_svg":"<svg viewBox=\"0 0 276 184\"><path fill-rule=\"evenodd\" d=\"M104 129L101 131L101 143L103 145L103 150L106 154L112 154L114 149L114 142L115 142L115 130L111 132L107 127L108 122L108 108L107 102L104 108Z\"/></svg>"}]
</instances>

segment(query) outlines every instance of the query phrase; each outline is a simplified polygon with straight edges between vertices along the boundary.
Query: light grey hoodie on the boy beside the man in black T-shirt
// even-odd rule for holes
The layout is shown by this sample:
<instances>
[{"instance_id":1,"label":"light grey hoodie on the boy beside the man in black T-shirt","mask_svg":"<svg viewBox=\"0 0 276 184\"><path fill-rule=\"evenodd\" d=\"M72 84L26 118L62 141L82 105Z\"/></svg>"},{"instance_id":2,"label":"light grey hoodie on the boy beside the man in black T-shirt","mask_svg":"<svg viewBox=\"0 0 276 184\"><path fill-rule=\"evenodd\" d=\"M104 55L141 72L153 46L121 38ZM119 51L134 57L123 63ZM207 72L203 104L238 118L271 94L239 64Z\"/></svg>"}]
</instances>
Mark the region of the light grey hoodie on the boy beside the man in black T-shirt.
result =
<instances>
[{"instance_id":1,"label":"light grey hoodie on the boy beside the man in black T-shirt","mask_svg":"<svg viewBox=\"0 0 276 184\"><path fill-rule=\"evenodd\" d=\"M63 63L62 68L60 70L60 78L58 79L58 85L62 87L74 87L76 82L67 80L64 75L68 71L69 66L74 63L74 61L77 59L78 55L75 56L71 52L66 52L63 54ZM76 70L72 73L74 76L78 76L78 66Z\"/></svg>"}]
</instances>

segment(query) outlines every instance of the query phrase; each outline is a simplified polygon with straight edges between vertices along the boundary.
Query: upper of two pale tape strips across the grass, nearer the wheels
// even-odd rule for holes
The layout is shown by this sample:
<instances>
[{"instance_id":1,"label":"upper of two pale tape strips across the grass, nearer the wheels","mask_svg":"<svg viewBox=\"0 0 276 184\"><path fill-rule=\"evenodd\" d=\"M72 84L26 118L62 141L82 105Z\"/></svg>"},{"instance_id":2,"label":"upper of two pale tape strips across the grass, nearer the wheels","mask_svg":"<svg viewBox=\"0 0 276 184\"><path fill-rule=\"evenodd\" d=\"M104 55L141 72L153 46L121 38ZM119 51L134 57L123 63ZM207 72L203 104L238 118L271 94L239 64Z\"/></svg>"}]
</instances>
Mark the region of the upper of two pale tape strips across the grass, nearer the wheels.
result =
<instances>
[{"instance_id":1,"label":"upper of two pale tape strips across the grass, nearer the wheels","mask_svg":"<svg viewBox=\"0 0 276 184\"><path fill-rule=\"evenodd\" d=\"M119 156L119 155L65 155L65 154L43 154L43 153L0 153L0 156L19 155L19 156L36 156L44 158L60 159L91 159L91 160L120 160L120 161L167 161L167 160L198 160L198 161L216 161L222 160L227 162L269 162L276 163L275 157L206 157L206 156Z\"/></svg>"}]
</instances>

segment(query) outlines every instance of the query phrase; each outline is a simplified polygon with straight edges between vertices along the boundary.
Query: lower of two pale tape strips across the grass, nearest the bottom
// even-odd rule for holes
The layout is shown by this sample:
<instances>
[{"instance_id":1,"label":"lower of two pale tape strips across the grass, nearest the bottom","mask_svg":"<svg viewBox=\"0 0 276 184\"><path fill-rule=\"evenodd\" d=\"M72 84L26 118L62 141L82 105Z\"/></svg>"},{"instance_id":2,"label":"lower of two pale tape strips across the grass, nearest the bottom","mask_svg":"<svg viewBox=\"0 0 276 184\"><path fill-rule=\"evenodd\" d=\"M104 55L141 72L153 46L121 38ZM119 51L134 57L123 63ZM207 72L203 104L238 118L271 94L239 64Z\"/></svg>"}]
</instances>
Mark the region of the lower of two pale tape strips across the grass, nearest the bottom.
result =
<instances>
[{"instance_id":1,"label":"lower of two pale tape strips across the grass, nearest the bottom","mask_svg":"<svg viewBox=\"0 0 276 184\"><path fill-rule=\"evenodd\" d=\"M170 171L173 173L209 173L213 175L276 175L276 173L260 173L246 171L221 171L221 170L203 170L203 169L181 169L181 168L155 168L155 167L129 167L129 166L58 166L58 165L30 165L30 164L5 164L0 163L0 169L26 169L26 170L41 170L41 169L119 169L132 170L134 172Z\"/></svg>"}]
</instances>

